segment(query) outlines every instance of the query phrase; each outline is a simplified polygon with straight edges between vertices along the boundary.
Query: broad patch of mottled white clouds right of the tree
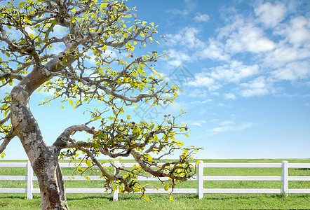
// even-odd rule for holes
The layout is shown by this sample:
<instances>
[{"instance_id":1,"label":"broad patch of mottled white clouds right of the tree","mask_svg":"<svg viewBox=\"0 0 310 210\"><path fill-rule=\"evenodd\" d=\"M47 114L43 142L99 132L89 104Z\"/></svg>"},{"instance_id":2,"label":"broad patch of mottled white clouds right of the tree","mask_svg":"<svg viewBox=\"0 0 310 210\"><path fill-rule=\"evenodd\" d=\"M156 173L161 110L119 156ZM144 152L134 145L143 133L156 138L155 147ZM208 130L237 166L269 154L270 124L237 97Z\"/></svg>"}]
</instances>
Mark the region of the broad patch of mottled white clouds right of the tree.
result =
<instances>
[{"instance_id":1,"label":"broad patch of mottled white clouds right of the tree","mask_svg":"<svg viewBox=\"0 0 310 210\"><path fill-rule=\"evenodd\" d=\"M168 34L174 54L169 64L203 59L217 62L198 71L187 85L224 99L278 93L285 90L281 80L306 85L310 78L310 18L288 15L288 8L293 7L294 3L256 3L250 15L231 8L224 16L225 25L213 37L204 38L196 27ZM207 14L195 16L196 21L208 18ZM223 92L224 87L230 91Z\"/></svg>"}]
</instances>

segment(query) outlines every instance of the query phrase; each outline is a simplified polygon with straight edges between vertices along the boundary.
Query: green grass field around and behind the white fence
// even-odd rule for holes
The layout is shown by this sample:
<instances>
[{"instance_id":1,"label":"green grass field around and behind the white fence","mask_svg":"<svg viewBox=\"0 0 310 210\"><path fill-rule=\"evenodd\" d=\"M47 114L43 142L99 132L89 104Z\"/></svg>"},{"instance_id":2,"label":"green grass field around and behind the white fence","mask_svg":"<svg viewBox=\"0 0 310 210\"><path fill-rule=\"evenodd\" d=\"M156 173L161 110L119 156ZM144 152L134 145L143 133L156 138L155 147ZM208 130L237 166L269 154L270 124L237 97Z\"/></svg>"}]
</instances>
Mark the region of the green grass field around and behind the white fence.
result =
<instances>
[{"instance_id":1,"label":"green grass field around and behind the white fence","mask_svg":"<svg viewBox=\"0 0 310 210\"><path fill-rule=\"evenodd\" d=\"M203 160L204 162L282 162L282 160ZM2 160L4 162L4 160ZM16 160L11 162L17 162ZM133 160L123 160L133 162ZM307 160L288 162L310 163ZM95 173L95 172L93 172ZM0 175L25 175L26 168L0 168ZM63 169L71 175L72 169ZM89 172L88 175L95 175ZM205 176L281 176L281 169L269 168L209 168ZM310 169L289 169L289 176L310 176ZM102 181L65 181L67 188L100 188ZM152 182L152 186L157 183ZM197 188L197 181L187 181L179 188ZM0 181L0 188L27 188L26 181ZM34 188L38 184L34 182ZM163 188L163 187L161 187ZM204 188L281 188L281 181L204 181ZM289 181L289 188L310 188L309 181ZM276 194L173 194L170 202L167 194L148 194L150 201L140 200L139 194L119 195L113 202L112 195L67 194L70 209L310 209L310 194L291 194L288 197ZM41 209L40 196L34 194L27 200L25 194L0 193L0 209Z\"/></svg>"}]
</instances>

